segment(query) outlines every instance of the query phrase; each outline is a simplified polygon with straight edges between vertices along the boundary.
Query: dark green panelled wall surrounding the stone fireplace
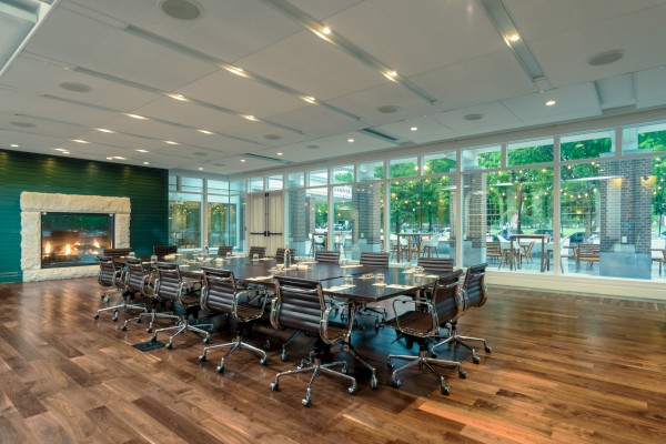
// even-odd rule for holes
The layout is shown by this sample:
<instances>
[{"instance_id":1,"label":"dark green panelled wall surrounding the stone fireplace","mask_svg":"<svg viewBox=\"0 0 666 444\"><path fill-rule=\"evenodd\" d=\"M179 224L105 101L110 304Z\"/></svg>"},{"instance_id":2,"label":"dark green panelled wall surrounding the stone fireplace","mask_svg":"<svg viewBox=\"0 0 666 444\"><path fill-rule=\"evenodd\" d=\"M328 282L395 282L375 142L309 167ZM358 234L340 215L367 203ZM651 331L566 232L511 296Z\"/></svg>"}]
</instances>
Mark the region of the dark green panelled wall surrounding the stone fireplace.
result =
<instances>
[{"instance_id":1,"label":"dark green panelled wall surrounding the stone fireplace","mask_svg":"<svg viewBox=\"0 0 666 444\"><path fill-rule=\"evenodd\" d=\"M169 171L0 150L0 282L22 280L23 191L130 198L138 255L169 243Z\"/></svg>"}]
</instances>

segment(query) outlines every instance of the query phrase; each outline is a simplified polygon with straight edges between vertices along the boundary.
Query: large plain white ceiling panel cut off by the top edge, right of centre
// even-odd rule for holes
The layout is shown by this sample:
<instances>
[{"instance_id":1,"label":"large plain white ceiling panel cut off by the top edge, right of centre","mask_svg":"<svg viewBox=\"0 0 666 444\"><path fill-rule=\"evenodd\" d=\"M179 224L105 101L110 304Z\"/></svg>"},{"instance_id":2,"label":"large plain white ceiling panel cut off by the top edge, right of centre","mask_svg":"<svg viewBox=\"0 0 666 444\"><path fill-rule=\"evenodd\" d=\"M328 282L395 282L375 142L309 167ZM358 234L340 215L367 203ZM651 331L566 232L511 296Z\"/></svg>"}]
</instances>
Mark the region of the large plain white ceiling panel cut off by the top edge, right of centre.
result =
<instances>
[{"instance_id":1,"label":"large plain white ceiling panel cut off by the top edge, right of centre","mask_svg":"<svg viewBox=\"0 0 666 444\"><path fill-rule=\"evenodd\" d=\"M500 50L504 42L476 2L367 0L326 20L334 32L402 75Z\"/></svg>"}]
</instances>

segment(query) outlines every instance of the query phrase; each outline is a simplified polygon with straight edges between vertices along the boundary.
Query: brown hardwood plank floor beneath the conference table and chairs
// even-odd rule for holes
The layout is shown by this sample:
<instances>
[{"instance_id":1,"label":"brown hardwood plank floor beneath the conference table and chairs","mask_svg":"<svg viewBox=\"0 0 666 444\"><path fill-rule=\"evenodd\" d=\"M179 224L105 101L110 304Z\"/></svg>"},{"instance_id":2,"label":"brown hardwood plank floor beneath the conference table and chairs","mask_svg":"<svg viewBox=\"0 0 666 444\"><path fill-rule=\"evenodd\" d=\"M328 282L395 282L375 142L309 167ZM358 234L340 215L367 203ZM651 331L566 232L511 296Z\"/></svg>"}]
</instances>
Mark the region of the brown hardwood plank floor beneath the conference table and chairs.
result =
<instances>
[{"instance_id":1,"label":"brown hardwood plank floor beneath the conference table and chairs","mask_svg":"<svg viewBox=\"0 0 666 444\"><path fill-rule=\"evenodd\" d=\"M94 321L94 279L2 284L0 443L666 441L666 302L490 290L461 333L486 337L493 353L467 361L466 380L445 371L450 396L417 369L392 387L386 355L405 353L404 340L369 329L354 344L376 365L380 387L349 361L359 393L321 376L305 408L307 376L282 379L280 392L269 385L311 339L295 341L287 362L273 339L268 366L236 352L218 374L220 352L200 363L192 334L174 350L141 352L131 345L149 340L145 324L121 332L108 312ZM231 336L222 326L213 343Z\"/></svg>"}]
</instances>

